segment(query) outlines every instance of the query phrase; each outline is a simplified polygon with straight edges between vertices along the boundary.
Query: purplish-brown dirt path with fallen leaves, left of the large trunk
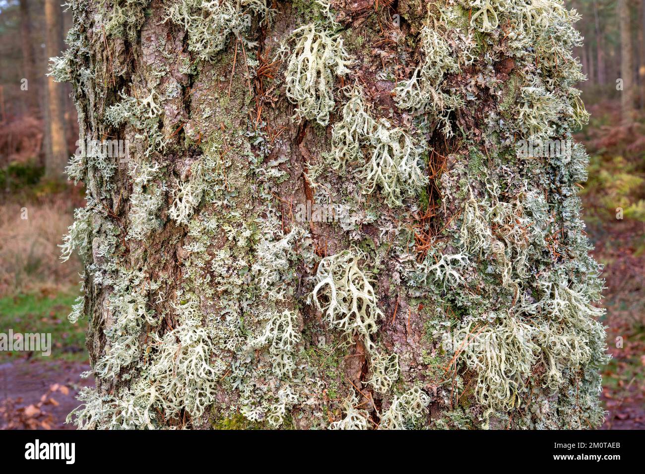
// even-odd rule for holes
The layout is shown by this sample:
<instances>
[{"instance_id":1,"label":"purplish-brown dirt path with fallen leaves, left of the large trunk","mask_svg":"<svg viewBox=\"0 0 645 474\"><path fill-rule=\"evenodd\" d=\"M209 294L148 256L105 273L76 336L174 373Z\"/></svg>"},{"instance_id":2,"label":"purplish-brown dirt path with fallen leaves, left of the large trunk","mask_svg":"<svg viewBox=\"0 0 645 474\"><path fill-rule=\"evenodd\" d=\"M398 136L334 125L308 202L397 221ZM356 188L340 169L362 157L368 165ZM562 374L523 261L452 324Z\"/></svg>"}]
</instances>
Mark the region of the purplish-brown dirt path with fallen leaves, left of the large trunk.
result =
<instances>
[{"instance_id":1,"label":"purplish-brown dirt path with fallen leaves, left of the large trunk","mask_svg":"<svg viewBox=\"0 0 645 474\"><path fill-rule=\"evenodd\" d=\"M0 363L0 429L74 430L65 424L79 406L76 394L93 380L81 379L89 364L42 359Z\"/></svg>"}]
</instances>

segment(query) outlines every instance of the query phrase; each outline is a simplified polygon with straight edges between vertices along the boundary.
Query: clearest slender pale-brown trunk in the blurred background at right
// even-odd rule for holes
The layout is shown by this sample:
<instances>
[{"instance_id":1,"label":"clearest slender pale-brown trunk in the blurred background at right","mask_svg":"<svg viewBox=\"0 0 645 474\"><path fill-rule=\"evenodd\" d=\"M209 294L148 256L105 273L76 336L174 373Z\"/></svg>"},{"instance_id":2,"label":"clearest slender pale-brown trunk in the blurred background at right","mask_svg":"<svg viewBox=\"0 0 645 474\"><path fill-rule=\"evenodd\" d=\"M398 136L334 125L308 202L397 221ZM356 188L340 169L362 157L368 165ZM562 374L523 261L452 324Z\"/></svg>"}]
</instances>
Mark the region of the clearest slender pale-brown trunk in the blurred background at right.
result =
<instances>
[{"instance_id":1,"label":"clearest slender pale-brown trunk in the blurred background at right","mask_svg":"<svg viewBox=\"0 0 645 474\"><path fill-rule=\"evenodd\" d=\"M631 44L631 15L628 0L618 0L618 24L620 28L620 77L622 92L620 106L623 123L633 123L637 86L634 82L633 46Z\"/></svg>"}]
</instances>

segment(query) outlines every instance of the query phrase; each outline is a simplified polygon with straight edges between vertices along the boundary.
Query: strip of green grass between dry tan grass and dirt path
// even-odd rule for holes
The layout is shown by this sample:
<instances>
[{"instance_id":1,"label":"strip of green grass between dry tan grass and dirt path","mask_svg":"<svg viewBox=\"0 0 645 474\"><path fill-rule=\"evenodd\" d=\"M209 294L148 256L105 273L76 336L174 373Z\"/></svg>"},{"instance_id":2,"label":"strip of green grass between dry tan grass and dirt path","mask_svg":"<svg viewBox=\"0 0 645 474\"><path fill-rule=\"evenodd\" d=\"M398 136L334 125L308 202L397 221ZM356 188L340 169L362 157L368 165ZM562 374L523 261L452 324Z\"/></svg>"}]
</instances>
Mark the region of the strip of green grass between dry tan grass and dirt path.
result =
<instances>
[{"instance_id":1,"label":"strip of green grass between dry tan grass and dirt path","mask_svg":"<svg viewBox=\"0 0 645 474\"><path fill-rule=\"evenodd\" d=\"M0 298L0 332L51 333L51 355L43 357L34 353L34 358L84 362L88 359L86 326L83 321L72 324L67 320L77 295L75 291L61 291L54 295L35 292ZM24 355L26 352L0 351L0 362Z\"/></svg>"}]
</instances>

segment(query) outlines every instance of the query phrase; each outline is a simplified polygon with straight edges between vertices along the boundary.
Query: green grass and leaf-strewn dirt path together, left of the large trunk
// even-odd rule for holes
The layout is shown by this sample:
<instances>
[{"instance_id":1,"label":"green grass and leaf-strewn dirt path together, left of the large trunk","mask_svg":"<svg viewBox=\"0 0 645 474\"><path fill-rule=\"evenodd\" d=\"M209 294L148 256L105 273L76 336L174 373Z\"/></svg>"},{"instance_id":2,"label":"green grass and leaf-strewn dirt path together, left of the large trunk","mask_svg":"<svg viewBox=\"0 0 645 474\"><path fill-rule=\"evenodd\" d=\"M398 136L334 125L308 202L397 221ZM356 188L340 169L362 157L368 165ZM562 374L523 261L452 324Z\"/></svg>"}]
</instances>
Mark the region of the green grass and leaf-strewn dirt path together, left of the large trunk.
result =
<instances>
[{"instance_id":1,"label":"green grass and leaf-strewn dirt path together, left of the large trunk","mask_svg":"<svg viewBox=\"0 0 645 474\"><path fill-rule=\"evenodd\" d=\"M92 380L80 375L90 369L84 348L83 324L70 324L67 315L78 290L28 291L0 298L0 328L19 334L51 334L51 354L0 352L0 429L69 430L75 399Z\"/></svg>"}]
</instances>

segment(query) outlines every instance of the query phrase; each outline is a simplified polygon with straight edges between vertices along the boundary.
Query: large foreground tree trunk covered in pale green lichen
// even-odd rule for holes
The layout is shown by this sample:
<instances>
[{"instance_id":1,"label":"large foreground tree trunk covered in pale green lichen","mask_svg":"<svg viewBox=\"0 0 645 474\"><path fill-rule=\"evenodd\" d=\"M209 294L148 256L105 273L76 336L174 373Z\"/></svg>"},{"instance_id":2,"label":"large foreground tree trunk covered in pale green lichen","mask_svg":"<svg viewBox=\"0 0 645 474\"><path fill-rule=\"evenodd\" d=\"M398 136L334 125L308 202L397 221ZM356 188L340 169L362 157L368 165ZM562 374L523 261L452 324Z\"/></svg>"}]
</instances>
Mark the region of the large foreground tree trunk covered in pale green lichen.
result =
<instances>
[{"instance_id":1,"label":"large foreground tree trunk covered in pale green lichen","mask_svg":"<svg viewBox=\"0 0 645 474\"><path fill-rule=\"evenodd\" d=\"M69 168L80 427L602 422L566 10L508 46L501 10L412 0L101 5L54 70L83 141L128 143Z\"/></svg>"}]
</instances>

